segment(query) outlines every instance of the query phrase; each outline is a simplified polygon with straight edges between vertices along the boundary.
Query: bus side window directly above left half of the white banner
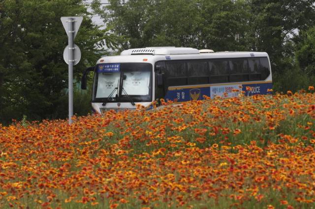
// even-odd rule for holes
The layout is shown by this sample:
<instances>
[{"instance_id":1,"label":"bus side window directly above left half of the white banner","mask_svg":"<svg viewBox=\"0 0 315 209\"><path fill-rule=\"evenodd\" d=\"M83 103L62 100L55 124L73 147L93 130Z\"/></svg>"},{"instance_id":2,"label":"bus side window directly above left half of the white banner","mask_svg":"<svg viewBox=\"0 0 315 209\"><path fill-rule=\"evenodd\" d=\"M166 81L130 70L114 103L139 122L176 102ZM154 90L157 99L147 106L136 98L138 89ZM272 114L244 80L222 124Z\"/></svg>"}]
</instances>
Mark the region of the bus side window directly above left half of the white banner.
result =
<instances>
[{"instance_id":1,"label":"bus side window directly above left half of the white banner","mask_svg":"<svg viewBox=\"0 0 315 209\"><path fill-rule=\"evenodd\" d=\"M210 83L227 83L229 82L228 61L223 59L210 60Z\"/></svg>"}]
</instances>

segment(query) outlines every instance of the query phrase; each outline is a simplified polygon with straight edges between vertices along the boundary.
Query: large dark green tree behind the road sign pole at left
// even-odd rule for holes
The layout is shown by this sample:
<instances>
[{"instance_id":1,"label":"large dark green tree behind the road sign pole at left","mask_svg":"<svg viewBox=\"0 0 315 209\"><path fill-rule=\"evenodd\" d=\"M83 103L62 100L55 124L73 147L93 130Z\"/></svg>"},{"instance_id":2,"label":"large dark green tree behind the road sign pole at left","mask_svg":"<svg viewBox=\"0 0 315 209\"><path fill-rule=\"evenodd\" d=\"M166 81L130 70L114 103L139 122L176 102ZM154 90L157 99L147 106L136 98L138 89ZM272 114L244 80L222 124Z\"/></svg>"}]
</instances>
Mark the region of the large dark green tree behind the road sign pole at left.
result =
<instances>
[{"instance_id":1,"label":"large dark green tree behind the road sign pole at left","mask_svg":"<svg viewBox=\"0 0 315 209\"><path fill-rule=\"evenodd\" d=\"M0 1L2 123L23 115L31 120L67 116L64 89L68 74L63 61L67 36L60 18L79 15L84 19L75 39L82 52L74 67L76 80L86 66L95 64L98 48L113 45L109 31L92 23L92 14L82 0Z\"/></svg>"}]
</instances>

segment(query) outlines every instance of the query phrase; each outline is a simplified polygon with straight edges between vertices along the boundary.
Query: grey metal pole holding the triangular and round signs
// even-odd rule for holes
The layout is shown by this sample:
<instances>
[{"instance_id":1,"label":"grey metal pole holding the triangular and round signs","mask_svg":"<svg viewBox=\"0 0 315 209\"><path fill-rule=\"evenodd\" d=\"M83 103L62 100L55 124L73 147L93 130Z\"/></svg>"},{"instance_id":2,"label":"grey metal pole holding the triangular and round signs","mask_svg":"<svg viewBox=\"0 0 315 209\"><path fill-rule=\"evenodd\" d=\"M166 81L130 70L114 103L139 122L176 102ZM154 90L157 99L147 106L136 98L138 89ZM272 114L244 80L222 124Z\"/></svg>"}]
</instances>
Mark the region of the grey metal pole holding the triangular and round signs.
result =
<instances>
[{"instance_id":1,"label":"grey metal pole holding the triangular and round signs","mask_svg":"<svg viewBox=\"0 0 315 209\"><path fill-rule=\"evenodd\" d=\"M69 125L72 124L71 117L73 116L73 33L74 28L73 24L74 19L69 18L68 19L68 28L69 28L69 35L68 35L68 46L69 46L69 64L68 64L68 74L69 74L69 80L68 80L68 95L69 95Z\"/></svg>"}]
</instances>

